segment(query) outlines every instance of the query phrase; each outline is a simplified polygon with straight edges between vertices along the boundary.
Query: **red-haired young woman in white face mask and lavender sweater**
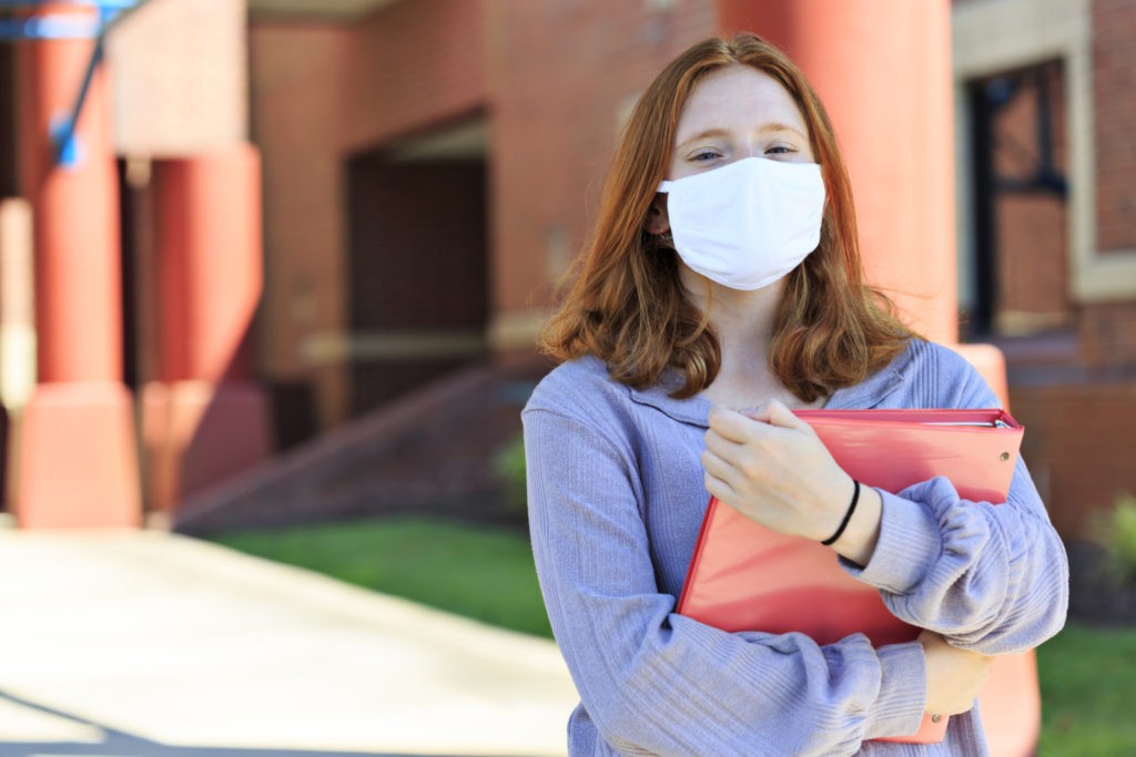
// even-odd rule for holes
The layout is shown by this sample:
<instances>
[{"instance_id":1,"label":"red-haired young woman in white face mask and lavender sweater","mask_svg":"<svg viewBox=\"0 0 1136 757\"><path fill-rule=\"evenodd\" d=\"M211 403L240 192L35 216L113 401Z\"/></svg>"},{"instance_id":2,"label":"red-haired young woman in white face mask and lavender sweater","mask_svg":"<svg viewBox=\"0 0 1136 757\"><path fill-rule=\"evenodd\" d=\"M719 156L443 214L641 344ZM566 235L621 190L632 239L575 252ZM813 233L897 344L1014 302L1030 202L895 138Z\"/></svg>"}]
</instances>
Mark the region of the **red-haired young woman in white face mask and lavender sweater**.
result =
<instances>
[{"instance_id":1,"label":"red-haired young woman in white face mask and lavender sweater","mask_svg":"<svg viewBox=\"0 0 1136 757\"><path fill-rule=\"evenodd\" d=\"M891 314L857 245L828 118L783 53L711 40L651 84L544 335L563 362L524 411L537 572L582 699L573 755L984 755L987 656L1062 626L1064 552L1020 460L997 506L944 479L877 491L791 412L997 404ZM678 615L709 494L830 544L927 631L820 646ZM954 715L943 742L874 741L925 712Z\"/></svg>"}]
</instances>

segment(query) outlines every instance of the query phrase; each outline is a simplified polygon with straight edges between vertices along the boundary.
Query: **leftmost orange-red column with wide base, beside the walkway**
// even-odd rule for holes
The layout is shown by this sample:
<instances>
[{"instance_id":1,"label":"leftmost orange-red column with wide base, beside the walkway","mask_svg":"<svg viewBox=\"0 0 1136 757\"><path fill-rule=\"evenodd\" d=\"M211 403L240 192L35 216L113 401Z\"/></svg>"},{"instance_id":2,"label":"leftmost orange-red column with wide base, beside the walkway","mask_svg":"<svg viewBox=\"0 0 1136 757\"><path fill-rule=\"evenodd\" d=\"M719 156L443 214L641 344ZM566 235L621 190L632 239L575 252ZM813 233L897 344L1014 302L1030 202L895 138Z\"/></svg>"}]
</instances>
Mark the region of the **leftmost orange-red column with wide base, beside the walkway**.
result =
<instances>
[{"instance_id":1,"label":"leftmost orange-red column with wide base, beside the walkway","mask_svg":"<svg viewBox=\"0 0 1136 757\"><path fill-rule=\"evenodd\" d=\"M41 6L50 15L94 11ZM39 381L23 413L15 510L26 528L141 521L133 401L123 385L118 178L107 72L94 74L75 160L55 162L92 40L17 45L20 185L32 204Z\"/></svg>"}]
</instances>

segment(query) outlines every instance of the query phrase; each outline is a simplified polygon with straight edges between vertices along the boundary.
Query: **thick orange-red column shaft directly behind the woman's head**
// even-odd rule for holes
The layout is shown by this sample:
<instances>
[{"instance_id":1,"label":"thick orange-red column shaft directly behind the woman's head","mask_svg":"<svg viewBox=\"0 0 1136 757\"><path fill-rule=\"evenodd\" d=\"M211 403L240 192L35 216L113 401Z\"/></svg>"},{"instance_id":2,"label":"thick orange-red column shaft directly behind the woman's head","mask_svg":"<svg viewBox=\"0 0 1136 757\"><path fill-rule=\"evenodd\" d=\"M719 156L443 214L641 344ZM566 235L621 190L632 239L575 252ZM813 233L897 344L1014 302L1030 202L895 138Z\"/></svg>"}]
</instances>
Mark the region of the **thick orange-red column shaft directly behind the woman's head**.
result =
<instances>
[{"instance_id":1,"label":"thick orange-red column shaft directly behind the woman's head","mask_svg":"<svg viewBox=\"0 0 1136 757\"><path fill-rule=\"evenodd\" d=\"M949 0L719 0L725 33L785 50L836 128L870 280L958 338Z\"/></svg>"}]
</instances>

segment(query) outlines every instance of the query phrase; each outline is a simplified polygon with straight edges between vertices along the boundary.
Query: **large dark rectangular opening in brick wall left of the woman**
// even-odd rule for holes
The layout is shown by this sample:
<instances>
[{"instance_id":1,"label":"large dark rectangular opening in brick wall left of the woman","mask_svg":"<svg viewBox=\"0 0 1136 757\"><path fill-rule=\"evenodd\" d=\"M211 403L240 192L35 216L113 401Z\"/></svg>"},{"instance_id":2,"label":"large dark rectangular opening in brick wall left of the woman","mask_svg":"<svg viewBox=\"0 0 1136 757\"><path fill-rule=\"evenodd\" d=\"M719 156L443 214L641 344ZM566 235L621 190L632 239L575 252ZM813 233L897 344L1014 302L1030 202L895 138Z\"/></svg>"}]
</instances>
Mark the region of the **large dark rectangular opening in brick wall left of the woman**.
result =
<instances>
[{"instance_id":1,"label":"large dark rectangular opening in brick wall left of the woman","mask_svg":"<svg viewBox=\"0 0 1136 757\"><path fill-rule=\"evenodd\" d=\"M349 165L352 414L484 360L483 157Z\"/></svg>"}]
</instances>

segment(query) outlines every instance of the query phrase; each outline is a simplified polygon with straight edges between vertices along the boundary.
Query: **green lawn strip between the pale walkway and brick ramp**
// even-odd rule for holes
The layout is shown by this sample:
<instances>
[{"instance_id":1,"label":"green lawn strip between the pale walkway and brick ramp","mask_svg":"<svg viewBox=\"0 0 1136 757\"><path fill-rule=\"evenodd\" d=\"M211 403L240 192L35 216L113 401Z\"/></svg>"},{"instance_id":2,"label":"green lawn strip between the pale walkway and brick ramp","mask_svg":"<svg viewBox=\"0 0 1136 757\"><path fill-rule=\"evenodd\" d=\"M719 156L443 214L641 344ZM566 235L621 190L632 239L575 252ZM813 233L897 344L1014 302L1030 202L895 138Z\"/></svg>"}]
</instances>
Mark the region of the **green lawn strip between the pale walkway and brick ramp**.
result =
<instances>
[{"instance_id":1,"label":"green lawn strip between the pale walkway and brick ramp","mask_svg":"<svg viewBox=\"0 0 1136 757\"><path fill-rule=\"evenodd\" d=\"M516 529L391 518L234 532L214 540L493 625L552 637L528 537Z\"/></svg>"}]
</instances>

